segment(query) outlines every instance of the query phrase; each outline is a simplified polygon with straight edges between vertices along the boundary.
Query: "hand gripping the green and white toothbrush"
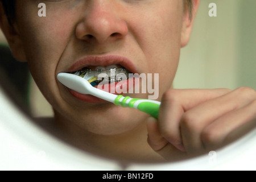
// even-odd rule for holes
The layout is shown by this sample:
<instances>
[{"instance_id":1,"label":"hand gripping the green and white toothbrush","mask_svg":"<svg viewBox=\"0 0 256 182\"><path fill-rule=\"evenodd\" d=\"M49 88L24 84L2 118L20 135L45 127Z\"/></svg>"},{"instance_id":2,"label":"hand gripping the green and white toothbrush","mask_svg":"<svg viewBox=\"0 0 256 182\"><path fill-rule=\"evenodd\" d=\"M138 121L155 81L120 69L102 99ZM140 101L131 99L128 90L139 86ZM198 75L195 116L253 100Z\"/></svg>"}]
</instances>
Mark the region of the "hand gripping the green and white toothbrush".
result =
<instances>
[{"instance_id":1,"label":"hand gripping the green and white toothbrush","mask_svg":"<svg viewBox=\"0 0 256 182\"><path fill-rule=\"evenodd\" d=\"M208 154L256 127L251 88L168 90L158 121L148 119L148 143L165 159Z\"/></svg>"}]
</instances>

